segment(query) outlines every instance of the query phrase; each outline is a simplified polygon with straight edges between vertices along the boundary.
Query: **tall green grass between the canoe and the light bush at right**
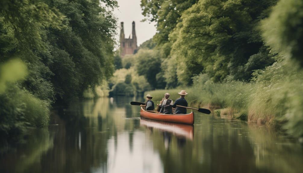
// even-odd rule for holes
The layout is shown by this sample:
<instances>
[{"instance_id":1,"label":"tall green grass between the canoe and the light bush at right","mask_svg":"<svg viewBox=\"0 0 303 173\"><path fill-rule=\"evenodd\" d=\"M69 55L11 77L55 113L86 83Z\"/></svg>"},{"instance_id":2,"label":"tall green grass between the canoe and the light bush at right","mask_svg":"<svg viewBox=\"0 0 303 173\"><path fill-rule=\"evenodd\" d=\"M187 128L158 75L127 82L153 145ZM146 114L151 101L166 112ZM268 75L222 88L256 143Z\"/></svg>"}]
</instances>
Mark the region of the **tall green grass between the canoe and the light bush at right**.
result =
<instances>
[{"instance_id":1,"label":"tall green grass between the canoe and the light bush at right","mask_svg":"<svg viewBox=\"0 0 303 173\"><path fill-rule=\"evenodd\" d=\"M170 98L175 100L180 97L178 92L186 90L186 100L191 106L224 108L231 107L236 111L247 109L248 100L250 99L253 88L250 83L228 82L213 83L210 80L204 80L204 75L194 78L193 87L184 87L171 90L148 91L153 96L153 100L160 101L164 93L170 93Z\"/></svg>"}]
</instances>

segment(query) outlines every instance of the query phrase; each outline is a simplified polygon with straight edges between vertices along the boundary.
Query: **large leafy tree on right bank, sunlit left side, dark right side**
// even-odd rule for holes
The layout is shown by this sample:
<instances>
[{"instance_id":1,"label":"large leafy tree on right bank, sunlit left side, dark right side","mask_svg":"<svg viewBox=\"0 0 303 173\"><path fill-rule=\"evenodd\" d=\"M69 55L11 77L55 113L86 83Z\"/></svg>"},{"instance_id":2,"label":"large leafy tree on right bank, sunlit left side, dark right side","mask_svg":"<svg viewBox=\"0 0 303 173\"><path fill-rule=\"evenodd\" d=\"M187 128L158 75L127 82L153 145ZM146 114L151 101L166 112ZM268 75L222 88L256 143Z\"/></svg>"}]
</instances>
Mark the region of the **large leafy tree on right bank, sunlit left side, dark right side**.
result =
<instances>
[{"instance_id":1,"label":"large leafy tree on right bank, sunlit left side, dark right side","mask_svg":"<svg viewBox=\"0 0 303 173\"><path fill-rule=\"evenodd\" d=\"M274 59L255 26L275 2L201 0L184 11L170 34L171 53L182 63L179 82L190 84L191 77L201 72L214 81L228 75L249 80L252 70L271 65Z\"/></svg>"}]
</instances>

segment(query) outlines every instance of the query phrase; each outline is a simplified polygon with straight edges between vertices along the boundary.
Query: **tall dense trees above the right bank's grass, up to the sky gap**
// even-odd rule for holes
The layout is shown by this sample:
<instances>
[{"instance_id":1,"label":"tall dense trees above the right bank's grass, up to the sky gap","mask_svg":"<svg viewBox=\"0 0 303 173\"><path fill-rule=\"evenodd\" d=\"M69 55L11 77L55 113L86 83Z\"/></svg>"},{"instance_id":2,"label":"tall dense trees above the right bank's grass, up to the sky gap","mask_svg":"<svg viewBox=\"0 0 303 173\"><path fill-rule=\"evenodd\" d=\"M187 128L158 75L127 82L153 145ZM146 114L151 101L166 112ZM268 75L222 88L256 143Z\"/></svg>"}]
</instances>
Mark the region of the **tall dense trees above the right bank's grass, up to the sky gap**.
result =
<instances>
[{"instance_id":1,"label":"tall dense trees above the right bank's grass, up to the sky gap","mask_svg":"<svg viewBox=\"0 0 303 173\"><path fill-rule=\"evenodd\" d=\"M251 78L274 62L258 31L277 0L141 1L146 20L156 21L153 41L162 52L166 87L188 85L207 73L215 82ZM177 76L177 80L171 80Z\"/></svg>"}]
</instances>

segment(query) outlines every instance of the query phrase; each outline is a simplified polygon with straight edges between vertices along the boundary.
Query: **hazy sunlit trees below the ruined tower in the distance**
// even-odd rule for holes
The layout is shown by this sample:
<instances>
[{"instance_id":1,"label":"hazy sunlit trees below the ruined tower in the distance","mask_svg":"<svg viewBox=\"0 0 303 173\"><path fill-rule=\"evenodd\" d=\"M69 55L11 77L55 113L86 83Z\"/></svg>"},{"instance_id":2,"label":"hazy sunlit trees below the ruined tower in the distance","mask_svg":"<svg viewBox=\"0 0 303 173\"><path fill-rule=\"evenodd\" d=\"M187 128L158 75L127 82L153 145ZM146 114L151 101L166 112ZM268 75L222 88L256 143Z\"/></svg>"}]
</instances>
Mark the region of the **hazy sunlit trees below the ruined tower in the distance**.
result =
<instances>
[{"instance_id":1,"label":"hazy sunlit trees below the ruined tower in the distance","mask_svg":"<svg viewBox=\"0 0 303 173\"><path fill-rule=\"evenodd\" d=\"M136 54L120 57L119 50L115 52L115 73L108 81L109 95L134 96L144 91L163 88L164 78L161 72L161 61L157 52L152 50L155 44L152 39L145 41Z\"/></svg>"}]
</instances>

